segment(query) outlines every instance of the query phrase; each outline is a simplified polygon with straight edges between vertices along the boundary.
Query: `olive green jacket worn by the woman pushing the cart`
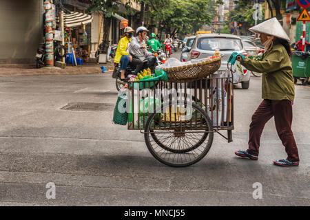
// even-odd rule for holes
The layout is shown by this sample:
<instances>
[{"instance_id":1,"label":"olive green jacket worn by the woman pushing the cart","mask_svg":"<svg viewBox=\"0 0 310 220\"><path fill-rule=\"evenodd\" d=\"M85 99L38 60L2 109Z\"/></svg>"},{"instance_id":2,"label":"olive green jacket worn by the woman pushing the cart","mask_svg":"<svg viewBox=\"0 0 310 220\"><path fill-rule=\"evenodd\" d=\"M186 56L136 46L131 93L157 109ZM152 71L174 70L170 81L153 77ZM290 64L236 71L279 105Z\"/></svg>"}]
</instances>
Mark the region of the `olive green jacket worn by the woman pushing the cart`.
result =
<instances>
[{"instance_id":1,"label":"olive green jacket worn by the woman pushing the cart","mask_svg":"<svg viewBox=\"0 0 310 220\"><path fill-rule=\"evenodd\" d=\"M291 61L283 45L275 42L260 60L245 58L240 63L250 71L262 73L263 99L294 100L295 87Z\"/></svg>"}]
</instances>

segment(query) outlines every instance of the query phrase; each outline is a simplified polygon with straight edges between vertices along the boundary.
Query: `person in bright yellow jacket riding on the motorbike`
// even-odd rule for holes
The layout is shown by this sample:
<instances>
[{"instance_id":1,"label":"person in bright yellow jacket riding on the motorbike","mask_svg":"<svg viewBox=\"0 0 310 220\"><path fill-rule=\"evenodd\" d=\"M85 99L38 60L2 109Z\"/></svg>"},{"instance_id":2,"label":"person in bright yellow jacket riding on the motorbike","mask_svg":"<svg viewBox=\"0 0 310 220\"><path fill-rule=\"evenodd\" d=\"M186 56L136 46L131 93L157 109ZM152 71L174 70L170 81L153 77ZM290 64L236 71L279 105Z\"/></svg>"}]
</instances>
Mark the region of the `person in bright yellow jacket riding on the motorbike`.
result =
<instances>
[{"instance_id":1,"label":"person in bright yellow jacket riding on the motorbike","mask_svg":"<svg viewBox=\"0 0 310 220\"><path fill-rule=\"evenodd\" d=\"M127 47L130 41L132 41L134 30L131 27L126 27L124 32L125 36L118 41L118 47L114 58L115 67L118 63L121 63L121 80L125 80L125 70L127 65L132 62L132 56L127 51Z\"/></svg>"}]
</instances>

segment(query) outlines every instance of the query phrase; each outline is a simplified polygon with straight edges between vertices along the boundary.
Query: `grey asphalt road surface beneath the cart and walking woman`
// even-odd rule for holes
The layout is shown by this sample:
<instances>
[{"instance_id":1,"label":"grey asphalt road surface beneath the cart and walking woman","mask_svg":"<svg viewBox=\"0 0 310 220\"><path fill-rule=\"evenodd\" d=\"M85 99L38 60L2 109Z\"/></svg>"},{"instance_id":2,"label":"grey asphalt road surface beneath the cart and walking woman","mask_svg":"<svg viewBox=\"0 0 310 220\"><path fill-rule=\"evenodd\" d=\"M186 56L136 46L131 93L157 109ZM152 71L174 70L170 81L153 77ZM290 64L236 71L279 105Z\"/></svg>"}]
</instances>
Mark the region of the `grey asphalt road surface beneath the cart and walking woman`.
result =
<instances>
[{"instance_id":1,"label":"grey asphalt road surface beneath the cart and walking woman","mask_svg":"<svg viewBox=\"0 0 310 220\"><path fill-rule=\"evenodd\" d=\"M172 168L152 157L139 131L112 124L111 76L0 77L0 206L309 206L310 87L296 85L293 105L300 166L273 165L286 157L273 119L258 161L234 155L247 148L261 101L261 79L251 77L249 89L235 88L234 142L215 134L200 162ZM61 109L70 102L107 105Z\"/></svg>"}]
</instances>

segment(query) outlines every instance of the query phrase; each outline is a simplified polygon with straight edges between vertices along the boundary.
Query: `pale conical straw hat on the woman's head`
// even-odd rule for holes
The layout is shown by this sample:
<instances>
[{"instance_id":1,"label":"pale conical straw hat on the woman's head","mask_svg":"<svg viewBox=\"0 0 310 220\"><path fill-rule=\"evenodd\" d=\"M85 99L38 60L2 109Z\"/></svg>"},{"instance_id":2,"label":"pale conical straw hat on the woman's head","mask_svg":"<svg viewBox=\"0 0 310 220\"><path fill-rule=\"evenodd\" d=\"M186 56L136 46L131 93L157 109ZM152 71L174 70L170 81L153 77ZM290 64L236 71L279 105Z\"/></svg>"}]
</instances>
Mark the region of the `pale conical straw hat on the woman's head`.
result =
<instances>
[{"instance_id":1,"label":"pale conical straw hat on the woman's head","mask_svg":"<svg viewBox=\"0 0 310 220\"><path fill-rule=\"evenodd\" d=\"M279 21L276 18L272 18L262 23L259 23L258 25L255 25L254 27L250 28L249 30L251 32L269 34L276 36L279 39L285 39L287 41L291 41L291 39L289 39L289 36L287 36L287 33L282 28L282 26L280 25Z\"/></svg>"}]
</instances>

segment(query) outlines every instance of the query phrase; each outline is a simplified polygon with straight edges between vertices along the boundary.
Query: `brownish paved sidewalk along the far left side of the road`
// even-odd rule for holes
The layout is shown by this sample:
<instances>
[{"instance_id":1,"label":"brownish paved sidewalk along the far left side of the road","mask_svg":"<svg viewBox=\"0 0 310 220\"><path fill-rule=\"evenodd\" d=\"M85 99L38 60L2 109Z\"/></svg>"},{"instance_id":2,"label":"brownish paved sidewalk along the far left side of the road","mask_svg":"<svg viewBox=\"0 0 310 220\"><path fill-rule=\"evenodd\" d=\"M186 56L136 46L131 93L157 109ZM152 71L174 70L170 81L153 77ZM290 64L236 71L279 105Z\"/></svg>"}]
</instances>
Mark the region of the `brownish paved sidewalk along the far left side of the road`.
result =
<instances>
[{"instance_id":1,"label":"brownish paved sidewalk along the far left side of the road","mask_svg":"<svg viewBox=\"0 0 310 220\"><path fill-rule=\"evenodd\" d=\"M101 73L101 66L104 66L107 72L114 69L112 62L101 64L84 63L78 66L68 64L65 69L60 67L42 67L37 69L34 65L3 64L0 65L0 76L99 74Z\"/></svg>"}]
</instances>

